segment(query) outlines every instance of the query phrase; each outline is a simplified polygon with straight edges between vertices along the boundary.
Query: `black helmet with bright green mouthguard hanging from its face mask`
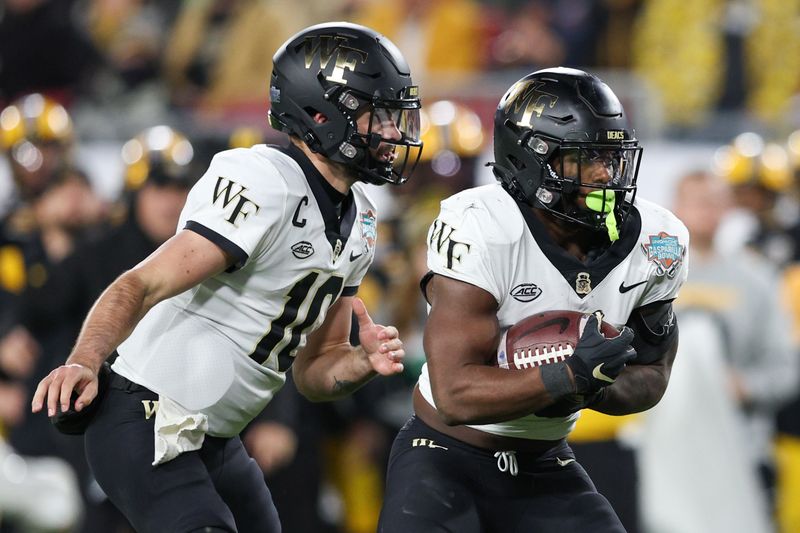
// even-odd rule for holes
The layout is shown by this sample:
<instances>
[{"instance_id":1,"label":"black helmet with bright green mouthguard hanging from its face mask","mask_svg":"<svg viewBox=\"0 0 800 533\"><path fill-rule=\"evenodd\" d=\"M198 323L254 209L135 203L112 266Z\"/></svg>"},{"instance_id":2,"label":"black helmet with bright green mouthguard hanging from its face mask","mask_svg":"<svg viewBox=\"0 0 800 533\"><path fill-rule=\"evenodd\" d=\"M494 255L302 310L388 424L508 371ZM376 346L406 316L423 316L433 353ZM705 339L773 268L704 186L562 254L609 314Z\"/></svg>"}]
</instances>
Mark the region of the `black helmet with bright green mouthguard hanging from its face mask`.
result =
<instances>
[{"instance_id":1,"label":"black helmet with bright green mouthguard hanging from its face mask","mask_svg":"<svg viewBox=\"0 0 800 533\"><path fill-rule=\"evenodd\" d=\"M492 167L503 187L612 241L636 196L641 152L619 99L581 70L528 74L495 113Z\"/></svg>"}]
</instances>

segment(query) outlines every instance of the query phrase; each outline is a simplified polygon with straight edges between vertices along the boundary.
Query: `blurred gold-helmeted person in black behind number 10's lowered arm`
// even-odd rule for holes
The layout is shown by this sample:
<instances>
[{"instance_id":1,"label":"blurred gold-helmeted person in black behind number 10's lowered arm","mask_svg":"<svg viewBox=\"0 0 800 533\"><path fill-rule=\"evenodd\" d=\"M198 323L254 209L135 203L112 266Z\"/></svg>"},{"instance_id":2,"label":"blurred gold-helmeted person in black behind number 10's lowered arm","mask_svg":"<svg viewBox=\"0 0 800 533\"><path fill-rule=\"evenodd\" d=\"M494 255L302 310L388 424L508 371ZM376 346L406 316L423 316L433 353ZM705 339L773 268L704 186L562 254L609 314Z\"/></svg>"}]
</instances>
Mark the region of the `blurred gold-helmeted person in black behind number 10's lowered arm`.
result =
<instances>
[{"instance_id":1,"label":"blurred gold-helmeted person in black behind number 10's lowered arm","mask_svg":"<svg viewBox=\"0 0 800 533\"><path fill-rule=\"evenodd\" d=\"M117 224L79 246L46 284L26 291L21 315L32 327L68 322L74 339L100 293L174 235L186 195L202 173L202 157L182 133L163 125L126 142L121 156L125 198L114 215Z\"/></svg>"}]
</instances>

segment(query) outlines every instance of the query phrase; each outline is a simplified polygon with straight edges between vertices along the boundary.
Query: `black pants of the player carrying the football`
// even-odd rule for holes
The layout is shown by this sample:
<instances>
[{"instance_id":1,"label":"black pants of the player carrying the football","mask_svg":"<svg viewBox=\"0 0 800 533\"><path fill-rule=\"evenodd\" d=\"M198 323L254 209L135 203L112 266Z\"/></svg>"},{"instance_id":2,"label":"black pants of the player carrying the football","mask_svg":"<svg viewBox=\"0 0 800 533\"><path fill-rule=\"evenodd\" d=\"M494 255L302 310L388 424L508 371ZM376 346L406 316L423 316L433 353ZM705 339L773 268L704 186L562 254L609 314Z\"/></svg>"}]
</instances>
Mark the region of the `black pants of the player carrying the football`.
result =
<instances>
[{"instance_id":1,"label":"black pants of the player carrying the football","mask_svg":"<svg viewBox=\"0 0 800 533\"><path fill-rule=\"evenodd\" d=\"M464 444L412 417L392 446L379 533L625 532L568 445L504 451Z\"/></svg>"}]
</instances>

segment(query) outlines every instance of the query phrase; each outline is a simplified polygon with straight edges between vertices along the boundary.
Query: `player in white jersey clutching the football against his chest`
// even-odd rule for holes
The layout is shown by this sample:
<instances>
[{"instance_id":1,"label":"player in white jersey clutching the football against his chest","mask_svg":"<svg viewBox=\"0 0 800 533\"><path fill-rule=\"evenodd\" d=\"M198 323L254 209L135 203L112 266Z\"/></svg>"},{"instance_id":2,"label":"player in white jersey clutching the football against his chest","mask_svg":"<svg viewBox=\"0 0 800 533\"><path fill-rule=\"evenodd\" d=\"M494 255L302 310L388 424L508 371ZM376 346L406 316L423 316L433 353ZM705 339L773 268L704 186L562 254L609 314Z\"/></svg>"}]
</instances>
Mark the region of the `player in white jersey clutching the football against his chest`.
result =
<instances>
[{"instance_id":1,"label":"player in white jersey clutching the football against his chest","mask_svg":"<svg viewBox=\"0 0 800 533\"><path fill-rule=\"evenodd\" d=\"M379 531L622 532L565 437L581 409L633 413L663 395L689 235L636 197L642 149L595 76L522 78L494 143L499 183L443 201L428 232L427 362ZM505 329L551 310L589 315L570 357L493 364ZM618 336L600 333L598 311Z\"/></svg>"}]
</instances>

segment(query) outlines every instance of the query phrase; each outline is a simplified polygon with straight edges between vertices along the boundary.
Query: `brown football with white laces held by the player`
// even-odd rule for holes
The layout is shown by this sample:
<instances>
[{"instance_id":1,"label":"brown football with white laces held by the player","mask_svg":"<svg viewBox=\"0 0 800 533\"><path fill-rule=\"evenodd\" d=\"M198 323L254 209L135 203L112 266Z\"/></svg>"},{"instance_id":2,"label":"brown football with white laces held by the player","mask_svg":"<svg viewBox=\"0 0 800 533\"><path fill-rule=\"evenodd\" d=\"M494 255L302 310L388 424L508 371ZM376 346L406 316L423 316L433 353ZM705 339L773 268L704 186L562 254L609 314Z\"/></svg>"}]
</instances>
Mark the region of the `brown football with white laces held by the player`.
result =
<instances>
[{"instance_id":1,"label":"brown football with white laces held by the player","mask_svg":"<svg viewBox=\"0 0 800 533\"><path fill-rule=\"evenodd\" d=\"M503 333L497 366L522 370L564 361L575 351L589 316L579 311L545 311L523 318ZM601 322L600 331L609 338L619 335L606 322Z\"/></svg>"}]
</instances>

